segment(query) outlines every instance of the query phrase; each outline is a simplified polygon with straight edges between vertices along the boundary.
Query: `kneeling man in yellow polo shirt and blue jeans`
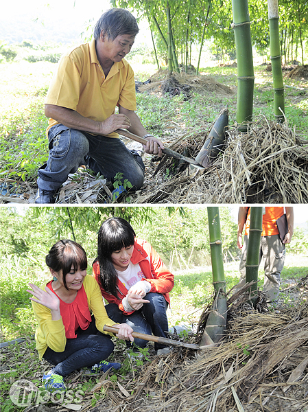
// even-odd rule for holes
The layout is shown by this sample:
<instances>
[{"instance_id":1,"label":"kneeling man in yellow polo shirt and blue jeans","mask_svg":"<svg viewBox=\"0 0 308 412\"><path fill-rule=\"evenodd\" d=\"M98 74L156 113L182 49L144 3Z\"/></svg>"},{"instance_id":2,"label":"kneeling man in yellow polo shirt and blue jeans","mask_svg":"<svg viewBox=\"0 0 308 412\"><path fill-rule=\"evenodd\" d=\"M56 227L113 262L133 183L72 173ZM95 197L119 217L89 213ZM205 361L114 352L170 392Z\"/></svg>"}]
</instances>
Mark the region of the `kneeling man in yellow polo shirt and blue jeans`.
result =
<instances>
[{"instance_id":1,"label":"kneeling man in yellow polo shirt and blue jeans","mask_svg":"<svg viewBox=\"0 0 308 412\"><path fill-rule=\"evenodd\" d=\"M110 181L120 172L140 189L143 161L119 139L118 128L143 136L145 152L161 156L163 143L147 133L135 113L134 72L124 59L138 32L128 10L110 9L97 21L93 41L60 59L45 100L49 158L38 170L35 203L55 203L57 190L80 165Z\"/></svg>"}]
</instances>

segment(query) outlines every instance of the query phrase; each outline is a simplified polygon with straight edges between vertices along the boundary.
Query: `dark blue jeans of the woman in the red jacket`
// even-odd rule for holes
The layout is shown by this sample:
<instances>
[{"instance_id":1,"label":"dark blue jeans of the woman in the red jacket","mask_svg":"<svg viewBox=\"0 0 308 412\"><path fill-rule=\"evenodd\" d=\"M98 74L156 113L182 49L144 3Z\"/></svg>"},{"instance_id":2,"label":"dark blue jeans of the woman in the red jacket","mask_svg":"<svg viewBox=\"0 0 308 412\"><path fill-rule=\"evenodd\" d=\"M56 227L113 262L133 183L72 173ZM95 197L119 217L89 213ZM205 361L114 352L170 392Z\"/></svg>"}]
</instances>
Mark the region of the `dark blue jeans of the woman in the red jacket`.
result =
<instances>
[{"instance_id":1,"label":"dark blue jeans of the woman in the red jacket","mask_svg":"<svg viewBox=\"0 0 308 412\"><path fill-rule=\"evenodd\" d=\"M108 317L116 323L127 323L134 332L154 334L155 336L166 337L165 332L168 332L167 319L167 301L161 293L147 293L143 299L150 301L150 304L144 304L139 310L132 314L123 314L117 304L108 304L105 306ZM134 343L139 347L145 347L147 341L143 339L134 339ZM154 343L154 349L158 350L166 345Z\"/></svg>"}]
</instances>

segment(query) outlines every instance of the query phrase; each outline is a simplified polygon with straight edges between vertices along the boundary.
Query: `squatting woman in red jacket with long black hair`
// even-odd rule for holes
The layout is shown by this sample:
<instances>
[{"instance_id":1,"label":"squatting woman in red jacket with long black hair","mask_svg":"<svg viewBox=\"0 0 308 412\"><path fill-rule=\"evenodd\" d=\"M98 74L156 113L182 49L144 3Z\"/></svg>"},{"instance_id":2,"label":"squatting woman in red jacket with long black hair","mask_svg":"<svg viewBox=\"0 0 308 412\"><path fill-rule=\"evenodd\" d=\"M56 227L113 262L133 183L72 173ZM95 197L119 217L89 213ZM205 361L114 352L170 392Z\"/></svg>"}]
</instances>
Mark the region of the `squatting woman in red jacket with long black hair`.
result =
<instances>
[{"instance_id":1,"label":"squatting woman in red jacket with long black hair","mask_svg":"<svg viewBox=\"0 0 308 412\"><path fill-rule=\"evenodd\" d=\"M168 293L174 275L149 243L136 239L126 220L109 218L102 223L93 275L109 302L106 311L110 319L126 322L135 332L166 337ZM134 342L135 352L147 344L142 339ZM159 343L154 349L158 355L169 352L169 347Z\"/></svg>"}]
</instances>

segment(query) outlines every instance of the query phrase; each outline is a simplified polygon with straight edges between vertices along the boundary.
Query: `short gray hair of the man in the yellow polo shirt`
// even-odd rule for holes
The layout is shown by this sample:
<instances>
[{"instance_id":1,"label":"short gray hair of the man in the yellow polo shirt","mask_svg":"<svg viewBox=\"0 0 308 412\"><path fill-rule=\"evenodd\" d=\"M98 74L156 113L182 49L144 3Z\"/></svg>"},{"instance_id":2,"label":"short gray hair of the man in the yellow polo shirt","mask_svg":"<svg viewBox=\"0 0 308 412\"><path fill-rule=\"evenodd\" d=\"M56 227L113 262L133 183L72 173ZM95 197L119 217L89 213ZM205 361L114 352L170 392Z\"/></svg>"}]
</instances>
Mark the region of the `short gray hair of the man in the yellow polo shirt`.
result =
<instances>
[{"instance_id":1,"label":"short gray hair of the man in the yellow polo shirt","mask_svg":"<svg viewBox=\"0 0 308 412\"><path fill-rule=\"evenodd\" d=\"M111 41L117 36L130 34L136 36L139 32L137 20L134 16L123 8L112 8L102 14L94 27L94 38L99 39L101 32L104 32Z\"/></svg>"}]
</instances>

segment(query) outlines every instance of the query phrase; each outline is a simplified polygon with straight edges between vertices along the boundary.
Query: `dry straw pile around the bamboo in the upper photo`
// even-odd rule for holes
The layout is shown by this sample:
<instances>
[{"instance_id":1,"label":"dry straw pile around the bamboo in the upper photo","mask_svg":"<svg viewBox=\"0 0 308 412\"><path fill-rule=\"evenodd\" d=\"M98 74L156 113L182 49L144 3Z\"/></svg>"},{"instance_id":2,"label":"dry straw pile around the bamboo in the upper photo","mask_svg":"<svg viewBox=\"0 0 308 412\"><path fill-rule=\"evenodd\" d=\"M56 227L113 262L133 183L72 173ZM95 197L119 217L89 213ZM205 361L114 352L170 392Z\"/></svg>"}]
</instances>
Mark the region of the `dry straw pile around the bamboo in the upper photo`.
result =
<instances>
[{"instance_id":1,"label":"dry straw pile around the bamboo in the upper photo","mask_svg":"<svg viewBox=\"0 0 308 412\"><path fill-rule=\"evenodd\" d=\"M171 148L195 158L202 139L182 138ZM134 203L307 203L308 144L287 124L260 116L248 133L228 130L228 143L210 168L164 158L147 176Z\"/></svg>"}]
</instances>

